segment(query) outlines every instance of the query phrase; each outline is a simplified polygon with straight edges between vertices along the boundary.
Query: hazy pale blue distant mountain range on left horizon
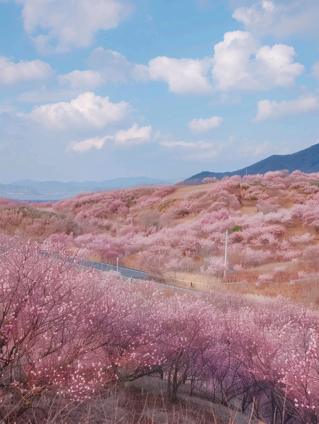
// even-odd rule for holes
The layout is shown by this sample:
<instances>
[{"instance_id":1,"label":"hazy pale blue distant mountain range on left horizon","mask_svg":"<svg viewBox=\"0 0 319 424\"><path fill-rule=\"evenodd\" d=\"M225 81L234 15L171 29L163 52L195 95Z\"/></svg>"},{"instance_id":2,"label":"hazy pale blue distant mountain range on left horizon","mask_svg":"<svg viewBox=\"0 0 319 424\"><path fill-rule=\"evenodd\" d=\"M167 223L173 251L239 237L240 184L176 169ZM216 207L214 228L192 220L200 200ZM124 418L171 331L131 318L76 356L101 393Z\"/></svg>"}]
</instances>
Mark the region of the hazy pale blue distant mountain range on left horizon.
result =
<instances>
[{"instance_id":1,"label":"hazy pale blue distant mountain range on left horizon","mask_svg":"<svg viewBox=\"0 0 319 424\"><path fill-rule=\"evenodd\" d=\"M129 177L113 178L105 181L32 181L18 180L11 184L0 184L0 197L18 200L61 200L79 193L129 188L139 185L168 185L169 181L160 178Z\"/></svg>"}]
</instances>

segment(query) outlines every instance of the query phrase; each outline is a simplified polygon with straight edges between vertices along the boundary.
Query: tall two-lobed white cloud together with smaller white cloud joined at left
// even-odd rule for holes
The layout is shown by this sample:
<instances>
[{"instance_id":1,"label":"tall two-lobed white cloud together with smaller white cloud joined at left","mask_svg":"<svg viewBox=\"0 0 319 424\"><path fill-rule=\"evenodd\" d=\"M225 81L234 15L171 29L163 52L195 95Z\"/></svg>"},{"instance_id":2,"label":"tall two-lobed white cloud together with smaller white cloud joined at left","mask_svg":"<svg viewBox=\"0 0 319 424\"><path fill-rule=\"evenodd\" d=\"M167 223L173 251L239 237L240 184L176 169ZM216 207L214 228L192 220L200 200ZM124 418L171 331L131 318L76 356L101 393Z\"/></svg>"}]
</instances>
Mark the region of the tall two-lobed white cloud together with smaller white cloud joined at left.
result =
<instances>
[{"instance_id":1,"label":"tall two-lobed white cloud together with smaller white cloud joined at left","mask_svg":"<svg viewBox=\"0 0 319 424\"><path fill-rule=\"evenodd\" d=\"M247 31L226 32L214 50L213 57L201 60L158 56L148 66L136 64L132 74L140 80L165 81L169 90L177 94L210 94L214 89L289 87L305 71L304 65L294 62L293 47L286 44L260 47L259 41Z\"/></svg>"}]
</instances>

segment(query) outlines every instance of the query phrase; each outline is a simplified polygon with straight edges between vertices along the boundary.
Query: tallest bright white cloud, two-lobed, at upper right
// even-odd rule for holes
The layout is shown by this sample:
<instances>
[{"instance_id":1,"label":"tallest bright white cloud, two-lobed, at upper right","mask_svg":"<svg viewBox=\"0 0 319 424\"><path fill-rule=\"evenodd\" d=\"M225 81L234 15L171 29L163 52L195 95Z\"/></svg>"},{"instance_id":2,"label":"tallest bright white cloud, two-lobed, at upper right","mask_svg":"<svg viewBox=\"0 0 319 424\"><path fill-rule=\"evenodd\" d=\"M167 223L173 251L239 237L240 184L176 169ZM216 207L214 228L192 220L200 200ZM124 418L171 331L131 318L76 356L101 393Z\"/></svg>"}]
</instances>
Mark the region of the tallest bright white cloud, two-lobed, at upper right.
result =
<instances>
[{"instance_id":1,"label":"tallest bright white cloud, two-lobed, at upper right","mask_svg":"<svg viewBox=\"0 0 319 424\"><path fill-rule=\"evenodd\" d=\"M226 32L224 40L215 45L212 75L224 91L287 87L305 70L302 64L294 63L295 55L294 48L286 44L258 48L250 32Z\"/></svg>"}]
</instances>

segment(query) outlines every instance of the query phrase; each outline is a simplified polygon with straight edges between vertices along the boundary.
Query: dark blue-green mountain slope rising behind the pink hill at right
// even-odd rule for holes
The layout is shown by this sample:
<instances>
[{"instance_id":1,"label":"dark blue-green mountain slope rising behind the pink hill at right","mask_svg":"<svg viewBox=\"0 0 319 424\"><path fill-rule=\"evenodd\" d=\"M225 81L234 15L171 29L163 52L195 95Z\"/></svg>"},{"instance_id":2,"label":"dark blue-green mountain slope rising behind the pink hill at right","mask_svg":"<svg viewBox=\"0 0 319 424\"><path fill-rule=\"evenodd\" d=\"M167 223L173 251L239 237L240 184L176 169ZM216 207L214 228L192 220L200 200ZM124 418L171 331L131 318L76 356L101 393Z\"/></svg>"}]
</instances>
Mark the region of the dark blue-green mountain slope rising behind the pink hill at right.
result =
<instances>
[{"instance_id":1,"label":"dark blue-green mountain slope rising behind the pink hill at right","mask_svg":"<svg viewBox=\"0 0 319 424\"><path fill-rule=\"evenodd\" d=\"M246 168L239 169L232 172L210 172L203 171L199 174L193 175L184 180L185 184L201 184L203 178L216 177L219 180L225 175L229 177L232 175L254 175L265 174L268 171L279 171L287 169L289 172L299 169L302 172L311 174L312 172L319 172L319 144L315 144L307 149L300 150L299 152L289 155L272 155L266 159L260 160L253 165Z\"/></svg>"}]
</instances>

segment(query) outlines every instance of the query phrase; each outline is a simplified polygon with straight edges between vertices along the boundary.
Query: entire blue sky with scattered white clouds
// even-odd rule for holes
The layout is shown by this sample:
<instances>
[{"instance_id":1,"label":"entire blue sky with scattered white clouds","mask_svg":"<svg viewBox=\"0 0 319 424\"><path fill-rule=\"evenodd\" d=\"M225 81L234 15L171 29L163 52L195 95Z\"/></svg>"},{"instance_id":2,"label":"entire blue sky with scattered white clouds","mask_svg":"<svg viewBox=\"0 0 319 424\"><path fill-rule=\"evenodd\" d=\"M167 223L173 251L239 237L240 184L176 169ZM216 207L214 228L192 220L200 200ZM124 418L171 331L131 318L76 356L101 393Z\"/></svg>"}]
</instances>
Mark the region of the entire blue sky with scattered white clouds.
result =
<instances>
[{"instance_id":1,"label":"entire blue sky with scattered white clouds","mask_svg":"<svg viewBox=\"0 0 319 424\"><path fill-rule=\"evenodd\" d=\"M318 0L0 0L0 182L179 180L319 142Z\"/></svg>"}]
</instances>

